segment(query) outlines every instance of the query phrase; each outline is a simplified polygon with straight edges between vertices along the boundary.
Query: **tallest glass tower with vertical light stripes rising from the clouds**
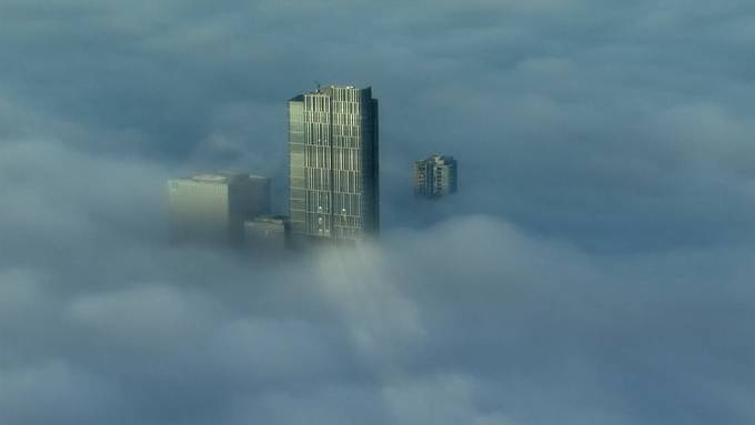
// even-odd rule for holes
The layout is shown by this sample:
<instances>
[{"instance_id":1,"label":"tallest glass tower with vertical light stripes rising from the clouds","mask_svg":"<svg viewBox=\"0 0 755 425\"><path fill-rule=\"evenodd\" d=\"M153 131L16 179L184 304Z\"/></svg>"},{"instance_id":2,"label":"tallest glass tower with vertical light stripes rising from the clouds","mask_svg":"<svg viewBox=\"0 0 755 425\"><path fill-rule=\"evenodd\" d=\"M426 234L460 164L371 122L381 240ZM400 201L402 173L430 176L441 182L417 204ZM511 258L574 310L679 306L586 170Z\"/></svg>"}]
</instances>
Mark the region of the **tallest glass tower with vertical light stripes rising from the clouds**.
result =
<instances>
[{"instance_id":1,"label":"tallest glass tower with vertical light stripes rising from the clouds","mask_svg":"<svg viewBox=\"0 0 755 425\"><path fill-rule=\"evenodd\" d=\"M378 100L330 85L289 101L291 232L360 240L380 229Z\"/></svg>"}]
</instances>

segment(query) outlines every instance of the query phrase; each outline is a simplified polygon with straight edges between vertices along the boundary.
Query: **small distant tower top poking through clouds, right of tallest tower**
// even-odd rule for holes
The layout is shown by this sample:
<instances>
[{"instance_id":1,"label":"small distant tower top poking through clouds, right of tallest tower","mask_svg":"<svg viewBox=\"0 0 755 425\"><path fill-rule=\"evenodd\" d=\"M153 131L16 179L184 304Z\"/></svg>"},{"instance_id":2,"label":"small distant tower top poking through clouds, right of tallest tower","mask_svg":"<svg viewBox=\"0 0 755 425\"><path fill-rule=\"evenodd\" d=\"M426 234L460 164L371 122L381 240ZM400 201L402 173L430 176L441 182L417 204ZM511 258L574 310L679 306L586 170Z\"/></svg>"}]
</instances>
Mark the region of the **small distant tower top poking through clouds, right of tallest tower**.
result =
<instances>
[{"instance_id":1,"label":"small distant tower top poking through clouds, right of tallest tower","mask_svg":"<svg viewBox=\"0 0 755 425\"><path fill-rule=\"evenodd\" d=\"M430 155L414 162L414 194L439 198L456 192L456 160L453 156Z\"/></svg>"}]
</instances>

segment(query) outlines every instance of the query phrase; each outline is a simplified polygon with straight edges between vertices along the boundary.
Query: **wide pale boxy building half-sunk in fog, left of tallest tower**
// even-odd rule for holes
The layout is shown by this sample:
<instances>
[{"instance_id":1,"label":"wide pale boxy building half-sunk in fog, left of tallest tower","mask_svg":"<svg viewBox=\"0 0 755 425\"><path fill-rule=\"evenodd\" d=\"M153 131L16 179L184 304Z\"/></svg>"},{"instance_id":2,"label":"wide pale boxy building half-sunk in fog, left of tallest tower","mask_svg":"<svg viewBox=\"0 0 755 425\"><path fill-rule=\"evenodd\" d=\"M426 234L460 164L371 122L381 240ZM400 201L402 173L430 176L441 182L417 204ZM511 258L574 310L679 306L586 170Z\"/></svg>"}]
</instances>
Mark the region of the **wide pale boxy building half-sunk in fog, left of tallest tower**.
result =
<instances>
[{"instance_id":1,"label":"wide pale boxy building half-sunk in fog, left of tallest tower","mask_svg":"<svg viewBox=\"0 0 755 425\"><path fill-rule=\"evenodd\" d=\"M177 242L240 243L244 220L270 213L270 179L199 174L168 181L171 235Z\"/></svg>"}]
</instances>

